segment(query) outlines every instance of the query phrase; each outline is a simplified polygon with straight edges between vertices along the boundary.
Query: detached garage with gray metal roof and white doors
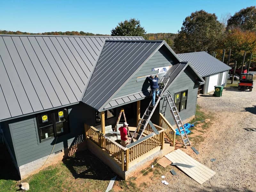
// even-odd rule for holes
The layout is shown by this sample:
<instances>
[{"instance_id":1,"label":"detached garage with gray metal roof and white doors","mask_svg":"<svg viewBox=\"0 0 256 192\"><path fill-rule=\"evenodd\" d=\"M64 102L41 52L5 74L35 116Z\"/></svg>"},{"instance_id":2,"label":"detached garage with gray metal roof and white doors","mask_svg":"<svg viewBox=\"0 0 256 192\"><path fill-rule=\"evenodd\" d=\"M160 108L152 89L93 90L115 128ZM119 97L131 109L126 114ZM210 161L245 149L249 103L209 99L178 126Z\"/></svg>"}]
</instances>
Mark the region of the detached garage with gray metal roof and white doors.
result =
<instances>
[{"instance_id":1,"label":"detached garage with gray metal roof and white doors","mask_svg":"<svg viewBox=\"0 0 256 192\"><path fill-rule=\"evenodd\" d=\"M207 94L214 91L214 86L227 84L228 70L231 68L207 52L182 53L178 57L190 61L205 80L205 84L199 87L200 93Z\"/></svg>"}]
</instances>

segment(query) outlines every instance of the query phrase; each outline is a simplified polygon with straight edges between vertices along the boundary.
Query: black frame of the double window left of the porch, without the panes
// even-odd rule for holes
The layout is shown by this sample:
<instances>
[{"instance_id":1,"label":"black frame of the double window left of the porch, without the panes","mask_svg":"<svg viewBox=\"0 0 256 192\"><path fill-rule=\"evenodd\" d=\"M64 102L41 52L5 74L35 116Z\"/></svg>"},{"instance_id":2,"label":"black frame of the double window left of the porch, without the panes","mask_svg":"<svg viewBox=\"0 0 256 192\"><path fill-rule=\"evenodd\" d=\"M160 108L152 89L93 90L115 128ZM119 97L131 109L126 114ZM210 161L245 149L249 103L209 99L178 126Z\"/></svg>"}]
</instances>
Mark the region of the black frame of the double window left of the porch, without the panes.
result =
<instances>
[{"instance_id":1,"label":"black frame of the double window left of the porch, without the panes","mask_svg":"<svg viewBox=\"0 0 256 192\"><path fill-rule=\"evenodd\" d=\"M59 112L60 111L63 111L66 110L66 119L65 120L60 120L60 121L56 121L56 114L58 114L57 116L59 116ZM52 122L51 124L47 124L45 126L40 126L40 124L42 124L41 122L39 122L39 119L43 118L42 116L47 114L48 118L50 117ZM60 116L59 116L60 118ZM63 118L64 118L64 113L63 113ZM67 124L67 129L61 133L57 133L57 129L56 129L56 125L57 124L60 124L60 123L66 123ZM39 141L40 143L41 142L44 142L46 140L50 140L52 138L56 138L57 136L62 136L62 135L65 135L65 134L68 134L70 133L70 126L69 126L69 117L68 117L68 108L59 108L59 109L54 109L54 110L51 110L51 111L46 111L44 113L40 113L40 114L37 114L36 115L36 124L37 124L37 131L38 131L38 138L39 138ZM49 126L52 126L52 129L53 129L53 136L51 137L48 137L46 139L41 139L41 135L40 135L40 132L41 132L41 129L42 128L45 128L45 127L49 127Z\"/></svg>"}]
</instances>

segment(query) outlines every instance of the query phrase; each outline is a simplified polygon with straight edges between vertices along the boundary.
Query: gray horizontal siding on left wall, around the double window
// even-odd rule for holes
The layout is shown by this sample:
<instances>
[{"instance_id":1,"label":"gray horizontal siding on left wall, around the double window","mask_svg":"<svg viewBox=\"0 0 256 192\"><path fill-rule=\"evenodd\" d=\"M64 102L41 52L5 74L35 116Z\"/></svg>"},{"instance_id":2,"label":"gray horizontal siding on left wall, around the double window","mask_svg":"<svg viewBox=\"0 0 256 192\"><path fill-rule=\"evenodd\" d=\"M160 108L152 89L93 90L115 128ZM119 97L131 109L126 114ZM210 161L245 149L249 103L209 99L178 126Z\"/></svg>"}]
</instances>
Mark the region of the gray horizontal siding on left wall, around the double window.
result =
<instances>
[{"instance_id":1,"label":"gray horizontal siding on left wall, around the double window","mask_svg":"<svg viewBox=\"0 0 256 192\"><path fill-rule=\"evenodd\" d=\"M86 111L87 115L84 115ZM84 123L94 125L94 110L85 104L71 106L68 109L70 133L59 136L56 145L54 138L39 142L36 116L15 119L9 122L12 135L13 149L18 166L47 156L63 148L73 145L81 135L84 138Z\"/></svg>"}]
</instances>

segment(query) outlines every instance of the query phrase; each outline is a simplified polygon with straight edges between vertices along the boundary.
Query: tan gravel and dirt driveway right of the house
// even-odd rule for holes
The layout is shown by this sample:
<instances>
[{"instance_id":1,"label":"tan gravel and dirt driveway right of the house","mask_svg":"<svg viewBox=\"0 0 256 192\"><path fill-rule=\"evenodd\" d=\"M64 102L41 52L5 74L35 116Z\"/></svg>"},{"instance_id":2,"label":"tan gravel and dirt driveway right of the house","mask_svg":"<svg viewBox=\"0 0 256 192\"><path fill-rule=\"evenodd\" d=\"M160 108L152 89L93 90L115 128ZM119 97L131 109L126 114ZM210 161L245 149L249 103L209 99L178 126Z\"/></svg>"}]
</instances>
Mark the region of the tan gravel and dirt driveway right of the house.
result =
<instances>
[{"instance_id":1,"label":"tan gravel and dirt driveway right of the house","mask_svg":"<svg viewBox=\"0 0 256 192\"><path fill-rule=\"evenodd\" d=\"M169 185L148 175L134 182L145 191L256 191L256 88L238 91L237 87L224 88L222 97L204 95L197 99L201 110L209 114L210 122L206 129L196 125L194 134L189 137L203 138L193 143L200 154L190 147L182 149L188 155L209 167L216 174L202 185L188 177L178 168L169 165L162 174ZM208 120L209 121L209 120ZM196 140L194 140L196 141ZM215 158L215 162L210 160ZM177 175L169 171L174 169Z\"/></svg>"}]
</instances>

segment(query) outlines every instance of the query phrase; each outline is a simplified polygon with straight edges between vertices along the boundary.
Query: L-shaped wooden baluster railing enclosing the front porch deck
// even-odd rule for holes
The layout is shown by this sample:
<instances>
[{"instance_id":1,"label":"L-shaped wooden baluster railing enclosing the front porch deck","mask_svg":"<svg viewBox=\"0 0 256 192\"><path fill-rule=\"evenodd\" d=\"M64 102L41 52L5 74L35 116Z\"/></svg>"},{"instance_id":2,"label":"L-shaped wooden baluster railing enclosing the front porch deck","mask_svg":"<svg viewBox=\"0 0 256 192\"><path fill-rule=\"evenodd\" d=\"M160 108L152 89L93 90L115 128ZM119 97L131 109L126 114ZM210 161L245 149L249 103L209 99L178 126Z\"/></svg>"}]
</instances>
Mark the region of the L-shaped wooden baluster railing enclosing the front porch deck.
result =
<instances>
[{"instance_id":1,"label":"L-shaped wooden baluster railing enclosing the front porch deck","mask_svg":"<svg viewBox=\"0 0 256 192\"><path fill-rule=\"evenodd\" d=\"M114 162L116 162L116 164L118 164L123 171L127 171L130 162L159 146L161 146L161 149L163 149L164 129L157 125L154 126L158 130L159 134L155 134L152 128L149 126L147 132L150 134L138 141L133 142L130 144L130 147L129 145L127 147L123 147L117 142L109 140L93 126L84 124L84 131L85 138L92 140L109 156L111 156Z\"/></svg>"}]
</instances>

